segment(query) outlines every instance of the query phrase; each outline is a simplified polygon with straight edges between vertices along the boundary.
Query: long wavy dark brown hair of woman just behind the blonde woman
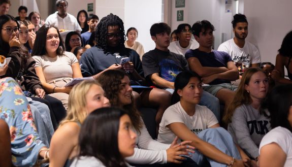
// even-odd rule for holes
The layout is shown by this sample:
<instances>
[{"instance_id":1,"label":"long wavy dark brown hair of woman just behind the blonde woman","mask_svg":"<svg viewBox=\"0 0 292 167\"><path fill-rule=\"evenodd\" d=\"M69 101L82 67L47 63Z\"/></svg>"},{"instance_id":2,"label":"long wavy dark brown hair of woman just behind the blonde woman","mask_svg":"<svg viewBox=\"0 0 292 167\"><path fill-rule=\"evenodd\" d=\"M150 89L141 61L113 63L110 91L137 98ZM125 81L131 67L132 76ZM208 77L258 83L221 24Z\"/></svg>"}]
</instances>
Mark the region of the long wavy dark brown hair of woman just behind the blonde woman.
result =
<instances>
[{"instance_id":1,"label":"long wavy dark brown hair of woman just behind the blonde woman","mask_svg":"<svg viewBox=\"0 0 292 167\"><path fill-rule=\"evenodd\" d=\"M105 96L109 99L110 104L112 106L119 105L119 97L118 97L118 94L120 91L119 85L121 84L121 80L125 76L129 77L127 73L125 73L122 70L107 70L104 73L102 73L97 79L98 82L102 85L103 89L105 90ZM128 112L128 115L131 118L131 121L135 129L138 132L140 132L140 129L142 128L140 114L134 104L133 96L131 98L132 98L132 103L129 105L123 106L123 109Z\"/></svg>"}]
</instances>

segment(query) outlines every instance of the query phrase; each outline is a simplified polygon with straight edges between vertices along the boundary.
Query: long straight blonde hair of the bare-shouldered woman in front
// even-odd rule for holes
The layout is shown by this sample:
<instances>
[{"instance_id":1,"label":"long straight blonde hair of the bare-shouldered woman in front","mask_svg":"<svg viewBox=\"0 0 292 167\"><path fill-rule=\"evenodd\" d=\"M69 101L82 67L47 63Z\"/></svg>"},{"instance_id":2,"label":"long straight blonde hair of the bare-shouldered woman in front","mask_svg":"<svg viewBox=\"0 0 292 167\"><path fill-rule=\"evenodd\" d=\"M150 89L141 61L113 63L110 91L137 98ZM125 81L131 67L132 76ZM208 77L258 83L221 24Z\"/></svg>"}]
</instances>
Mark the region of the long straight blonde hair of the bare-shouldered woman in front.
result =
<instances>
[{"instance_id":1,"label":"long straight blonde hair of the bare-shouldered woman in front","mask_svg":"<svg viewBox=\"0 0 292 167\"><path fill-rule=\"evenodd\" d=\"M69 94L67 116L60 122L60 126L66 122L83 123L88 115L85 96L92 85L98 85L102 89L102 86L96 80L85 80L72 88Z\"/></svg>"}]
</instances>

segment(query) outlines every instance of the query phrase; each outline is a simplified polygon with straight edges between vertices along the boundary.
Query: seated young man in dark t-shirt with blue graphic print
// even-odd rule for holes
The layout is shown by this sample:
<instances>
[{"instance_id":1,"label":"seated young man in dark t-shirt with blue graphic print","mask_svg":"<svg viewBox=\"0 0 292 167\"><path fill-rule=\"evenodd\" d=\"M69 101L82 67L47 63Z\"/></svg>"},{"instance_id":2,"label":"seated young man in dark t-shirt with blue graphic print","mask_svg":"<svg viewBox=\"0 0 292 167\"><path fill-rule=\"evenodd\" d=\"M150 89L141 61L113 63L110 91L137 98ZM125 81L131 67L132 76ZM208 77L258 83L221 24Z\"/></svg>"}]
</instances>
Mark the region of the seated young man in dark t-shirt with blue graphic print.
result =
<instances>
[{"instance_id":1,"label":"seated young man in dark t-shirt with blue graphic print","mask_svg":"<svg viewBox=\"0 0 292 167\"><path fill-rule=\"evenodd\" d=\"M186 59L168 50L170 42L170 26L166 23L155 23L150 28L150 35L155 42L155 49L145 53L142 60L145 78L159 88L171 93L174 91L176 76L188 70ZM218 98L203 91L201 105L207 106L220 120L220 104Z\"/></svg>"}]
</instances>

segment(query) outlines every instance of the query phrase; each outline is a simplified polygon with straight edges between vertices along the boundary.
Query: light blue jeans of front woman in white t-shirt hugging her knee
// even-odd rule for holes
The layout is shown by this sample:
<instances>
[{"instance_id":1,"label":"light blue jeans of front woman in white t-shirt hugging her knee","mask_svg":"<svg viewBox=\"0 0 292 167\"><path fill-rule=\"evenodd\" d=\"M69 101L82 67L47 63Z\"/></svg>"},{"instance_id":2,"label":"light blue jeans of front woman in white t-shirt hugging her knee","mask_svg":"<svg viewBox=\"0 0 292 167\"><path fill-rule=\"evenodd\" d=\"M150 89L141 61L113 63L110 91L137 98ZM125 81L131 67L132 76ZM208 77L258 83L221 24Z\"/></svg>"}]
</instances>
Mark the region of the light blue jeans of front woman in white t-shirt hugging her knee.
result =
<instances>
[{"instance_id":1,"label":"light blue jeans of front woman in white t-shirt hugging her knee","mask_svg":"<svg viewBox=\"0 0 292 167\"><path fill-rule=\"evenodd\" d=\"M233 139L228 131L222 127L217 128L208 128L201 131L198 134L198 137L203 141L210 143L215 146L218 150L223 153L232 156L236 159L241 159L239 151L237 150L236 145L233 142ZM199 164L199 166L206 166L206 160L210 165L216 167L226 167L226 164L216 162L205 155L201 154L198 150L192 155L191 159ZM208 163L207 162L207 163Z\"/></svg>"}]
</instances>

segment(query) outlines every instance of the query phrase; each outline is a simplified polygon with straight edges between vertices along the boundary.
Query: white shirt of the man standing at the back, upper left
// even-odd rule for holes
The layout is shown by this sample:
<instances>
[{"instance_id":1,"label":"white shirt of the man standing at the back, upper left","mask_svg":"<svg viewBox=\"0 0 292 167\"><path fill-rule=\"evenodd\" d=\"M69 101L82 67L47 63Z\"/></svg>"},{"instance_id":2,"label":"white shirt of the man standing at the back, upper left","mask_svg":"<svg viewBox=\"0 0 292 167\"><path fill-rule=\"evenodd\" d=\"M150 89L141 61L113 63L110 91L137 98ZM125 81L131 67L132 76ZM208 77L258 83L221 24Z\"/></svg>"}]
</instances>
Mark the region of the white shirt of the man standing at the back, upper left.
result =
<instances>
[{"instance_id":1,"label":"white shirt of the man standing at the back, upper left","mask_svg":"<svg viewBox=\"0 0 292 167\"><path fill-rule=\"evenodd\" d=\"M58 29L66 29L66 30L72 30L72 31L82 31L82 28L77 22L77 19L67 13L66 17L61 18L58 15L58 11L51 14L46 19L46 24L53 24L54 26L58 27Z\"/></svg>"}]
</instances>

